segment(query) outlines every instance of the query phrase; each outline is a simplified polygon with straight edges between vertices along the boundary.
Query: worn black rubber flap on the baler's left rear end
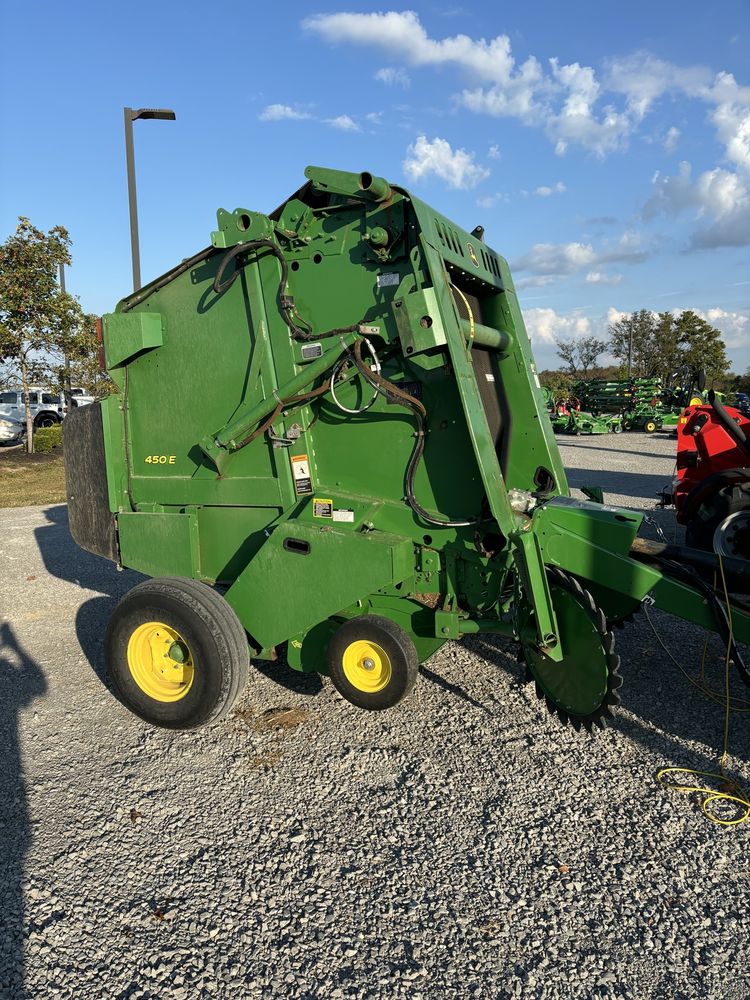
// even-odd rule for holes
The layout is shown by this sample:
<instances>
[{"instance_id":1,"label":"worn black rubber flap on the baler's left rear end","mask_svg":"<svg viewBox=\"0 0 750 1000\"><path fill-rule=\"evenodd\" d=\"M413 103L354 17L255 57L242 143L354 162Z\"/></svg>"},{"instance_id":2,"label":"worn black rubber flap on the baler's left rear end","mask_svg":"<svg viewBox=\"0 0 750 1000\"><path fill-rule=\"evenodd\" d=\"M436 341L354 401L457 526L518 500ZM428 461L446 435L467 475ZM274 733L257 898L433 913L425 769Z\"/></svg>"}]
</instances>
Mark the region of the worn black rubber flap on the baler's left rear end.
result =
<instances>
[{"instance_id":1,"label":"worn black rubber flap on the baler's left rear end","mask_svg":"<svg viewBox=\"0 0 750 1000\"><path fill-rule=\"evenodd\" d=\"M100 403L77 406L63 422L65 490L70 533L82 549L118 561L115 518L109 509Z\"/></svg>"}]
</instances>

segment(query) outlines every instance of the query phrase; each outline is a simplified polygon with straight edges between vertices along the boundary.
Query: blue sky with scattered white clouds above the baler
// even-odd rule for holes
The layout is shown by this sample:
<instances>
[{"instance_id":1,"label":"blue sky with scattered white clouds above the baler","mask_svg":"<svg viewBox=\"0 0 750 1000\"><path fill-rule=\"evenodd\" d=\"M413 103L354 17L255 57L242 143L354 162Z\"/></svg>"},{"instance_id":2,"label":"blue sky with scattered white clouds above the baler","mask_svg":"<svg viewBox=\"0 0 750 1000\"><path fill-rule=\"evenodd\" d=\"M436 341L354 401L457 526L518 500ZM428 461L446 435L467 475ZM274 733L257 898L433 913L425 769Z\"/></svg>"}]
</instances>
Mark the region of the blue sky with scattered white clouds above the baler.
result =
<instances>
[{"instance_id":1,"label":"blue sky with scattered white clouds above the baler","mask_svg":"<svg viewBox=\"0 0 750 1000\"><path fill-rule=\"evenodd\" d=\"M0 239L73 238L68 289L130 290L122 108L144 281L219 207L270 211L308 163L406 185L513 267L541 367L622 312L695 309L750 366L750 4L122 5L0 13Z\"/></svg>"}]
</instances>

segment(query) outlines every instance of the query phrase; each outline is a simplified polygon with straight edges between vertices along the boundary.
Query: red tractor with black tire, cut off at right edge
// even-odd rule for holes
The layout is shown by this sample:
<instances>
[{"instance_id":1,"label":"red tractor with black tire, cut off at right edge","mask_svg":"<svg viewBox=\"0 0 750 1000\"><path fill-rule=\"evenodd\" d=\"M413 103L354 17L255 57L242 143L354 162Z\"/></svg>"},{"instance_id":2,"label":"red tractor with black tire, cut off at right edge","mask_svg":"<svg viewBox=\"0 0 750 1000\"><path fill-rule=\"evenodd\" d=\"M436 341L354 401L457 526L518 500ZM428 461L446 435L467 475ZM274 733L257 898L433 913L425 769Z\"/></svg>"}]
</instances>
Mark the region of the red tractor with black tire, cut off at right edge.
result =
<instances>
[{"instance_id":1,"label":"red tractor with black tire, cut off at right edge","mask_svg":"<svg viewBox=\"0 0 750 1000\"><path fill-rule=\"evenodd\" d=\"M750 417L708 400L680 417L671 499L688 545L750 559Z\"/></svg>"}]
</instances>

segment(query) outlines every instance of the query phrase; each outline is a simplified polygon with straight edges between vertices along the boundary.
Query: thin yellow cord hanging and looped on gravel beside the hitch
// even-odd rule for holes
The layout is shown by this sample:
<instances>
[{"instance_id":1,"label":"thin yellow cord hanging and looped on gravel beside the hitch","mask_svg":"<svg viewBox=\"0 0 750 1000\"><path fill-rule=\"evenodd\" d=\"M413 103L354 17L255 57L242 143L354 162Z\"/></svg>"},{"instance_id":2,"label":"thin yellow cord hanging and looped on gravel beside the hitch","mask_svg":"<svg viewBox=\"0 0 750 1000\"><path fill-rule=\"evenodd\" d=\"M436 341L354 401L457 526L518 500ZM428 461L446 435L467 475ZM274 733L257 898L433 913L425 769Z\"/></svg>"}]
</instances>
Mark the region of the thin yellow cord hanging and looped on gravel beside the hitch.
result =
<instances>
[{"instance_id":1,"label":"thin yellow cord hanging and looped on gravel beside the hitch","mask_svg":"<svg viewBox=\"0 0 750 1000\"><path fill-rule=\"evenodd\" d=\"M732 648L733 640L733 624L732 624L732 609L729 604L729 592L727 589L727 581L724 576L724 562L719 555L719 569L721 571L721 582L724 589L724 599L726 600L727 614L729 617L729 641L727 642L727 652L724 659L724 693L723 696L717 691L713 691L704 683L704 667L706 662L706 649L708 647L708 639L706 639L703 645L703 657L701 659L701 683L691 677L686 670L683 669L682 665L677 662L677 660L672 656L671 651L662 642L661 636L656 631L653 622L648 614L648 610L644 607L646 611L646 618L648 623L653 629L654 635L656 636L659 645L669 656L670 660L678 667L680 672L690 681L690 683L697 687L699 691L702 692L707 698L712 701L716 701L719 704L724 705L724 748L721 754L721 760L719 761L719 770L717 771L698 771L692 767L664 767L656 773L656 780L664 788L670 788L675 792L697 792L699 795L703 796L701 799L701 810L703 815L709 819L712 823L716 823L718 826L737 826L740 823L744 823L745 820L750 818L750 796L748 796L747 791L736 781L729 778L726 773L725 765L727 757L729 755L729 717L732 711L735 712L748 712L750 711L750 702L743 698L732 698L729 694L729 671L730 671L730 650ZM732 704L734 702L734 705ZM673 774L694 774L700 778L707 778L711 781L717 782L719 784L718 788L707 788L705 785L683 785L675 781L669 780L668 775ZM712 806L716 802L731 802L734 805L740 807L740 812L734 819L723 819L712 811Z\"/></svg>"}]
</instances>

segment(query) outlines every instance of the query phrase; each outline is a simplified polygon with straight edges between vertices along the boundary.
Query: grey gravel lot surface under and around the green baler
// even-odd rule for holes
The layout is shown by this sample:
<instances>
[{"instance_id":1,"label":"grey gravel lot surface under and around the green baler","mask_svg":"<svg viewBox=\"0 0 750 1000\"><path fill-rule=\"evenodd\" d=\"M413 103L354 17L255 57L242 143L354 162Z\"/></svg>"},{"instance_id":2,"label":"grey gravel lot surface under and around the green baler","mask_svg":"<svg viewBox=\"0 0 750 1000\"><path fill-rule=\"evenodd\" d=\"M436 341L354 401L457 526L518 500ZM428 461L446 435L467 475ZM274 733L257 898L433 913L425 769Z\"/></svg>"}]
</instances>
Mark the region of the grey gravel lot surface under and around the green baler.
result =
<instances>
[{"instance_id":1,"label":"grey gravel lot surface under and around the green baler","mask_svg":"<svg viewBox=\"0 0 750 1000\"><path fill-rule=\"evenodd\" d=\"M671 475L667 437L561 447L610 502L651 507ZM750 995L750 825L654 779L715 767L721 711L643 617L595 738L495 638L444 647L388 713L282 665L218 728L173 734L105 686L135 574L77 549L62 506L0 511L0 570L3 1000ZM654 621L694 666L700 633ZM742 717L732 750L742 775Z\"/></svg>"}]
</instances>

